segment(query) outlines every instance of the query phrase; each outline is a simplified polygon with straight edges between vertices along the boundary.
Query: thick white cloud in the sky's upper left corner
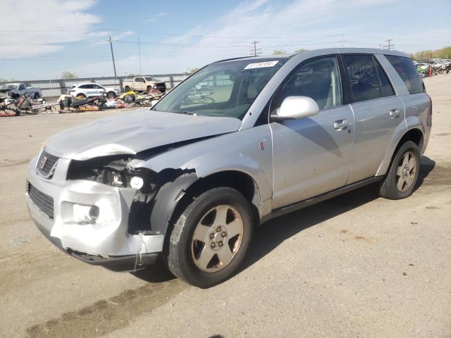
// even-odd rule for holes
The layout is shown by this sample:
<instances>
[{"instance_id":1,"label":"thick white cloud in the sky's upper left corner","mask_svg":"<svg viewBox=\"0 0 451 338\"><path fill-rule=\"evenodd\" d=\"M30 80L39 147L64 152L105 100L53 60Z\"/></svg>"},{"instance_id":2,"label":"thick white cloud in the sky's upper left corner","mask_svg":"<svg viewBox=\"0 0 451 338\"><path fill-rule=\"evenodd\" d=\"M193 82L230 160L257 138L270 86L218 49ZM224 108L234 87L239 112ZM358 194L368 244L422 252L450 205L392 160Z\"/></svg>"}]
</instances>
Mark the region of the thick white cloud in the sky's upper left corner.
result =
<instances>
[{"instance_id":1,"label":"thick white cloud in the sky's upper left corner","mask_svg":"<svg viewBox=\"0 0 451 338\"><path fill-rule=\"evenodd\" d=\"M61 50L64 44L93 37L101 22L86 13L94 0L2 0L0 58L23 58ZM68 30L77 32L68 32Z\"/></svg>"}]
</instances>

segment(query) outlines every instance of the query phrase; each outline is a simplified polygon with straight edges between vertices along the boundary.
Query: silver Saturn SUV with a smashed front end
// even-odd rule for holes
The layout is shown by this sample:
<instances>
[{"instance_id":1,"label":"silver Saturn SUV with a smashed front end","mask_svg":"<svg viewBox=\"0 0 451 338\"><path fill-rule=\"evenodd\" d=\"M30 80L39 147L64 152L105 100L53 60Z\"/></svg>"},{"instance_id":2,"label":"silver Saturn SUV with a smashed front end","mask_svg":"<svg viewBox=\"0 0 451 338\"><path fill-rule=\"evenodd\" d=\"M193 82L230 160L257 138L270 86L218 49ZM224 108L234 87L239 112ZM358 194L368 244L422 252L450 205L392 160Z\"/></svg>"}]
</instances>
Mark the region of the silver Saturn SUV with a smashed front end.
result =
<instances>
[{"instance_id":1,"label":"silver Saturn SUV with a smashed front end","mask_svg":"<svg viewBox=\"0 0 451 338\"><path fill-rule=\"evenodd\" d=\"M211 287L270 218L366 184L415 189L432 103L406 54L323 49L235 58L150 111L60 132L28 169L27 204L56 246L136 270L163 257Z\"/></svg>"}]
</instances>

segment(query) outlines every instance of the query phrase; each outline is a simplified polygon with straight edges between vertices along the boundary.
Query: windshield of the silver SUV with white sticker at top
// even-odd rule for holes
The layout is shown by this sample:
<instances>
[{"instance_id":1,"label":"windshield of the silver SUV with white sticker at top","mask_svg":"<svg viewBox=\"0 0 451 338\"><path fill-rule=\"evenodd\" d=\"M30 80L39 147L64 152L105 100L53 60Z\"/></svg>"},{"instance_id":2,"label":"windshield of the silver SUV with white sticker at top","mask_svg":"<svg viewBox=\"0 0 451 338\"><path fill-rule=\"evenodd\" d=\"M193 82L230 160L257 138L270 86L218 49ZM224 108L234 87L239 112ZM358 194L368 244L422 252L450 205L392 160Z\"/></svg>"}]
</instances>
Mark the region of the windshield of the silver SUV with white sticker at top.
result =
<instances>
[{"instance_id":1,"label":"windshield of the silver SUV with white sticker at top","mask_svg":"<svg viewBox=\"0 0 451 338\"><path fill-rule=\"evenodd\" d=\"M166 94L152 110L242 119L285 61L267 58L208 65Z\"/></svg>"}]
</instances>

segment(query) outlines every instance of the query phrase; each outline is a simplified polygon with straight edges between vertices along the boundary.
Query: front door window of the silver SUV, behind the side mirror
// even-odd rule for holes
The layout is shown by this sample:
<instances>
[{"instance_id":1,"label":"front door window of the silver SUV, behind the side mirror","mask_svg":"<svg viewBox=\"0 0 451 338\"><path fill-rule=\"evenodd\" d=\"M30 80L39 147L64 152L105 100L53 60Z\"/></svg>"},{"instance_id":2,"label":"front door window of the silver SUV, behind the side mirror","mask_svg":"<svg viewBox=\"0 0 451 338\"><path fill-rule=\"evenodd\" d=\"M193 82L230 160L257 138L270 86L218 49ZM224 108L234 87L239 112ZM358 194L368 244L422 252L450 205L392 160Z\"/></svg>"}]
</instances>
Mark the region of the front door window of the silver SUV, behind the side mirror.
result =
<instances>
[{"instance_id":1,"label":"front door window of the silver SUV, behind the side mirror","mask_svg":"<svg viewBox=\"0 0 451 338\"><path fill-rule=\"evenodd\" d=\"M274 108L288 96L309 96L320 110L342 105L340 72L335 56L315 58L302 63L279 89Z\"/></svg>"}]
</instances>

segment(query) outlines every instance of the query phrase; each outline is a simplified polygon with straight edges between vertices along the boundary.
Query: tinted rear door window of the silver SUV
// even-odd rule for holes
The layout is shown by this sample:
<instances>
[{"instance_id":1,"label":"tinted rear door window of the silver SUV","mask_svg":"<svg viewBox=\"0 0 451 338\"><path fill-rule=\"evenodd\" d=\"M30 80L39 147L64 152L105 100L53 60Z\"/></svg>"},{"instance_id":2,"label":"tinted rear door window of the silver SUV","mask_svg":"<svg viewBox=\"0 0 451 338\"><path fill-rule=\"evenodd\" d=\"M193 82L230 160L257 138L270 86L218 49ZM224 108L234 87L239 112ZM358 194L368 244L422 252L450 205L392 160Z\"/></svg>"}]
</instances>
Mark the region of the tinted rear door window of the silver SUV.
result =
<instances>
[{"instance_id":1,"label":"tinted rear door window of the silver SUV","mask_svg":"<svg viewBox=\"0 0 451 338\"><path fill-rule=\"evenodd\" d=\"M395 93L387 75L372 55L345 55L343 62L350 77L352 101L366 101Z\"/></svg>"}]
</instances>

